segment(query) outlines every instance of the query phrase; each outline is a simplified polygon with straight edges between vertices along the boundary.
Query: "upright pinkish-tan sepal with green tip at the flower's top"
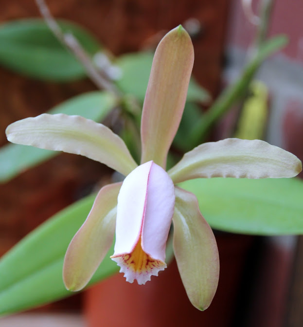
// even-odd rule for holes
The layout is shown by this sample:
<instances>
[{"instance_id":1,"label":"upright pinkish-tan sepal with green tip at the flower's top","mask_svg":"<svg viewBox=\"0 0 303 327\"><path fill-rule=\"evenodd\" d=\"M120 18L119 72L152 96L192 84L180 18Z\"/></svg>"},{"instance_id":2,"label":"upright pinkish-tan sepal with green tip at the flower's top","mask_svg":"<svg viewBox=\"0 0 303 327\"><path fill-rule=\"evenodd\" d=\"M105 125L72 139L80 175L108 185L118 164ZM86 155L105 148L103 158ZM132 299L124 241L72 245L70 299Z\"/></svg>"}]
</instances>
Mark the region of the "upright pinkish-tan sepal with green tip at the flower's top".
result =
<instances>
[{"instance_id":1,"label":"upright pinkish-tan sepal with green tip at the flower's top","mask_svg":"<svg viewBox=\"0 0 303 327\"><path fill-rule=\"evenodd\" d=\"M143 104L142 161L153 160L165 169L169 147L182 117L194 48L182 26L166 34L159 43Z\"/></svg>"}]
</instances>

